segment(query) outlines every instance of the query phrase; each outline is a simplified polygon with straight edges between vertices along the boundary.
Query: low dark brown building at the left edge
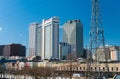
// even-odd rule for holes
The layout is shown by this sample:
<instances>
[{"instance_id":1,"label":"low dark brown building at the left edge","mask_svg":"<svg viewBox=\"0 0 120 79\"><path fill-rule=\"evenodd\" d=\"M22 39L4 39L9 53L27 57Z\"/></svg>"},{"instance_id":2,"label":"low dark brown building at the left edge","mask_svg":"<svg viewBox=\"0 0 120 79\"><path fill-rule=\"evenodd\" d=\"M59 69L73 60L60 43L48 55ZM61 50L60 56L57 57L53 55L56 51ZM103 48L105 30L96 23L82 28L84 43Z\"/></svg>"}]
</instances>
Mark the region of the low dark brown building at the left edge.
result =
<instances>
[{"instance_id":1,"label":"low dark brown building at the left edge","mask_svg":"<svg viewBox=\"0 0 120 79\"><path fill-rule=\"evenodd\" d=\"M2 45L0 47L0 56L19 56L25 57L26 56L26 48L21 44L8 44Z\"/></svg>"}]
</instances>

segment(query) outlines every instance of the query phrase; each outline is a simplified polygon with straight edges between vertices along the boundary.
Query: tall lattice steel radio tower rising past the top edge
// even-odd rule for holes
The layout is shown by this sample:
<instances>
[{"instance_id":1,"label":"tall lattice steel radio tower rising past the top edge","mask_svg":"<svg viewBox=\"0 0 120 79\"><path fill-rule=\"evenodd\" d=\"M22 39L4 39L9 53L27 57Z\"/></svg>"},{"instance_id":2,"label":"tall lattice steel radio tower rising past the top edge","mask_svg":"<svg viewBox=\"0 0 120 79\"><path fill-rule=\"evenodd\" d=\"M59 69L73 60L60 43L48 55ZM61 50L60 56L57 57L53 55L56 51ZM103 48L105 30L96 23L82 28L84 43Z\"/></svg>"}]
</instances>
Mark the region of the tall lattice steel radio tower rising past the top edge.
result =
<instances>
[{"instance_id":1,"label":"tall lattice steel radio tower rising past the top edge","mask_svg":"<svg viewBox=\"0 0 120 79\"><path fill-rule=\"evenodd\" d=\"M87 62L87 74L90 72L90 67L92 63L96 63L96 71L98 74L96 75L97 77L101 76L102 71L99 70L100 66L100 61L101 61L101 54L103 56L104 54L104 62L105 62L105 67L106 70L109 71L108 69L108 64L107 64L107 56L106 53L104 52L105 48L105 41L104 41L104 30L103 30L103 25L102 25L102 16L101 16L101 11L99 7L99 0L91 0L92 1L92 16L91 16L91 25L90 25L90 38L89 38L89 52L88 52L88 62ZM98 54L97 49L101 48L102 53ZM95 59L93 58L95 57ZM93 60L92 60L93 59Z\"/></svg>"}]
</instances>

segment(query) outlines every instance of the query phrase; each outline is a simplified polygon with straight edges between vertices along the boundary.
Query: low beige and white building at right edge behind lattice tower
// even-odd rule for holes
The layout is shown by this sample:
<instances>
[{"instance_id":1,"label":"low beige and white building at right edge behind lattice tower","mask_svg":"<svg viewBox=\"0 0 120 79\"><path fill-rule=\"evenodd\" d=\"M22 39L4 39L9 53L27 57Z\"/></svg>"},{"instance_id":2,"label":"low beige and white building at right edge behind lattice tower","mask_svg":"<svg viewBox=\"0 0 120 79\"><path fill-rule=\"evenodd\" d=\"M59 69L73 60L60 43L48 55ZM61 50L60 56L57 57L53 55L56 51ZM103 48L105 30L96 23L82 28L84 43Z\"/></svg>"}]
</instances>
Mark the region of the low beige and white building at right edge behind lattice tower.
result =
<instances>
[{"instance_id":1,"label":"low beige and white building at right edge behind lattice tower","mask_svg":"<svg viewBox=\"0 0 120 79\"><path fill-rule=\"evenodd\" d=\"M95 60L97 61L120 61L120 46L105 46L99 47L95 53Z\"/></svg>"}]
</instances>

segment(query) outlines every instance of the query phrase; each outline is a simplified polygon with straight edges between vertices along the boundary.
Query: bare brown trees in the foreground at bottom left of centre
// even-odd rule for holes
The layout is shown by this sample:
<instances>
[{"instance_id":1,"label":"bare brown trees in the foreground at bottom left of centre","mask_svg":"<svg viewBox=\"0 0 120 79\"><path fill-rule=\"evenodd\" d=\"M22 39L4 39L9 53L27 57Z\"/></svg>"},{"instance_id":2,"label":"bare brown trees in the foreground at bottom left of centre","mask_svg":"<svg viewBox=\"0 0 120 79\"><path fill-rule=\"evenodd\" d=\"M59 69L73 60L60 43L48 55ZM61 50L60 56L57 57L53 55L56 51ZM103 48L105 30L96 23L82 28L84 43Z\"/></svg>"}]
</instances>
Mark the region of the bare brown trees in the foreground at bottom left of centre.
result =
<instances>
[{"instance_id":1,"label":"bare brown trees in the foreground at bottom left of centre","mask_svg":"<svg viewBox=\"0 0 120 79\"><path fill-rule=\"evenodd\" d=\"M51 67L34 67L34 68L25 67L22 70L18 70L16 74L30 75L32 77L35 77L35 79L41 79L41 77L47 79L48 77L54 76L55 69Z\"/></svg>"}]
</instances>

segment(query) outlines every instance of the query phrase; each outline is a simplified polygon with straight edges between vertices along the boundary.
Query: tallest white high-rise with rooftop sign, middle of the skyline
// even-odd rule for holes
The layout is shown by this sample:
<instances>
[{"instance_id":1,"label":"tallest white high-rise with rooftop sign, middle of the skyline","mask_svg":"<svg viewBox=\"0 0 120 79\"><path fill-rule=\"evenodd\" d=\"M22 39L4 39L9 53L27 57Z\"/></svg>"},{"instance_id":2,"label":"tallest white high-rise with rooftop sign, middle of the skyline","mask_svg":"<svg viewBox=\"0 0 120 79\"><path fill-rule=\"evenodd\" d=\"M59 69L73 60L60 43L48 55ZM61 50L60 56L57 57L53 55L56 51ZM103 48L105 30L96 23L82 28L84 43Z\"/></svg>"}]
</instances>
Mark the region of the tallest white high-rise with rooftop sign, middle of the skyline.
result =
<instances>
[{"instance_id":1,"label":"tallest white high-rise with rooftop sign, middle of the skyline","mask_svg":"<svg viewBox=\"0 0 120 79\"><path fill-rule=\"evenodd\" d=\"M42 59L59 58L59 18L42 21Z\"/></svg>"}]
</instances>

